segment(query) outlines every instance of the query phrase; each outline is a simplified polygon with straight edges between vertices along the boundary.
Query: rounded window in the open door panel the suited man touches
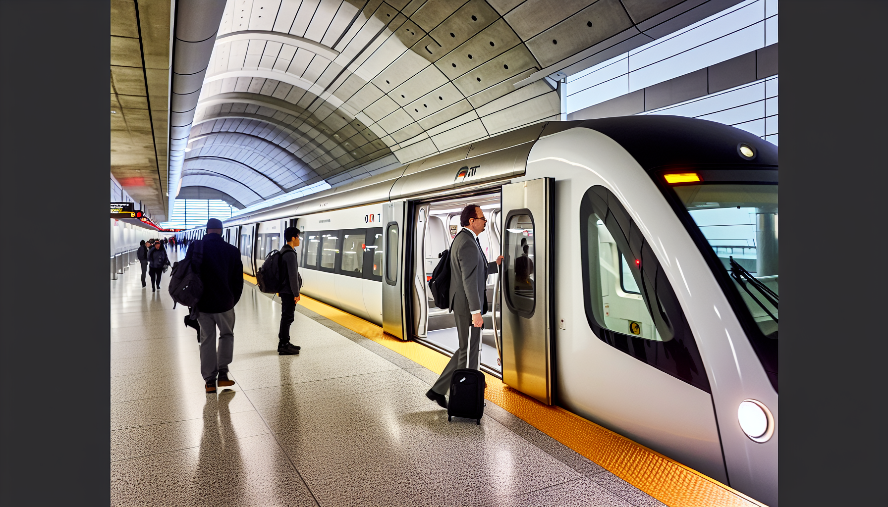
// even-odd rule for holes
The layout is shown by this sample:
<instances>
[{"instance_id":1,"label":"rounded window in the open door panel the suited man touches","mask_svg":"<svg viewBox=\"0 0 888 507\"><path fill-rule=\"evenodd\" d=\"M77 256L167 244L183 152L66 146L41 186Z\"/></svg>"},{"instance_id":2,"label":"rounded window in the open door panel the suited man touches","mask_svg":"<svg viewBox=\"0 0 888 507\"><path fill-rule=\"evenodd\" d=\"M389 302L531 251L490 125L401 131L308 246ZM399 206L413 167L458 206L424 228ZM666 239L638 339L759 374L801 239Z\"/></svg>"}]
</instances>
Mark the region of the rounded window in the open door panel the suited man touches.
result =
<instances>
[{"instance_id":1,"label":"rounded window in the open door panel the suited man touches","mask_svg":"<svg viewBox=\"0 0 888 507\"><path fill-rule=\"evenodd\" d=\"M534 218L530 211L511 211L503 235L505 301L512 312L529 319L536 306Z\"/></svg>"}]
</instances>

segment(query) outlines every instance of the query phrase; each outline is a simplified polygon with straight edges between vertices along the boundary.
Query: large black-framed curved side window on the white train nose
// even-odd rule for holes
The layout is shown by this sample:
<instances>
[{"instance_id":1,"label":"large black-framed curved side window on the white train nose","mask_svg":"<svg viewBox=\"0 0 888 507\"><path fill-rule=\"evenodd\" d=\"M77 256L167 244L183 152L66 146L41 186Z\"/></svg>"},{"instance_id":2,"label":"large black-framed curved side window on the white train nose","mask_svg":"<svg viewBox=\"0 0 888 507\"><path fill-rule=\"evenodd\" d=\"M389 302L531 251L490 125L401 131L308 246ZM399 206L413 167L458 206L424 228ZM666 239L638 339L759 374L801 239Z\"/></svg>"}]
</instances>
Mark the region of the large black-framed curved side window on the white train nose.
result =
<instances>
[{"instance_id":1,"label":"large black-framed curved side window on the white train nose","mask_svg":"<svg viewBox=\"0 0 888 507\"><path fill-rule=\"evenodd\" d=\"M711 392L694 335L659 259L622 203L604 186L592 186L583 195L580 249L586 319L595 335ZM624 275L624 270L629 273Z\"/></svg>"}]
</instances>

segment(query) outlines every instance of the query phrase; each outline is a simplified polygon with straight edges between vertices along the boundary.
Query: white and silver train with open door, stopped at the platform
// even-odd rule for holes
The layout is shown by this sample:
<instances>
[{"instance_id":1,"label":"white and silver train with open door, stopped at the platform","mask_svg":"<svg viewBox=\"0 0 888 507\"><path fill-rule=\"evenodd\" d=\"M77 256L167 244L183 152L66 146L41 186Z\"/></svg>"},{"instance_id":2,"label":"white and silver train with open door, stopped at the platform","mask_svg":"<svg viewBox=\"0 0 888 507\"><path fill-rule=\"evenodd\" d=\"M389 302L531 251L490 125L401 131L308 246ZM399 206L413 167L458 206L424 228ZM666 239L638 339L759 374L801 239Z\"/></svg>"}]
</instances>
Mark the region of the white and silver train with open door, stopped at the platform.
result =
<instances>
[{"instance_id":1,"label":"white and silver train with open door, stopped at the platform","mask_svg":"<svg viewBox=\"0 0 888 507\"><path fill-rule=\"evenodd\" d=\"M297 226L305 295L453 353L427 281L477 204L483 250L504 256L482 369L776 506L778 170L776 146L721 123L550 121L242 212L223 235L255 274Z\"/></svg>"}]
</instances>

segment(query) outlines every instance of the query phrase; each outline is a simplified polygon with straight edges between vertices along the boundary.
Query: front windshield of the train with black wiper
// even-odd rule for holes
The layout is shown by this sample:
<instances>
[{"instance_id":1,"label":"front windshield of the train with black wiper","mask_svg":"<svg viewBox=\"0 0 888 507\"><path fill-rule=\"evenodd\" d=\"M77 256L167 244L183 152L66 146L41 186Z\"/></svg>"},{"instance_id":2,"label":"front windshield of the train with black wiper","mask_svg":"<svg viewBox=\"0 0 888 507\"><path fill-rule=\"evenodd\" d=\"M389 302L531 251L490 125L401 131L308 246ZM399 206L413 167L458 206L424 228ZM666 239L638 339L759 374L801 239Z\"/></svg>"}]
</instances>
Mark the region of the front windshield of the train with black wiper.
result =
<instances>
[{"instance_id":1,"label":"front windshield of the train with black wiper","mask_svg":"<svg viewBox=\"0 0 888 507\"><path fill-rule=\"evenodd\" d=\"M765 337L776 340L780 318L777 185L702 183L673 189L733 281L745 310Z\"/></svg>"}]
</instances>

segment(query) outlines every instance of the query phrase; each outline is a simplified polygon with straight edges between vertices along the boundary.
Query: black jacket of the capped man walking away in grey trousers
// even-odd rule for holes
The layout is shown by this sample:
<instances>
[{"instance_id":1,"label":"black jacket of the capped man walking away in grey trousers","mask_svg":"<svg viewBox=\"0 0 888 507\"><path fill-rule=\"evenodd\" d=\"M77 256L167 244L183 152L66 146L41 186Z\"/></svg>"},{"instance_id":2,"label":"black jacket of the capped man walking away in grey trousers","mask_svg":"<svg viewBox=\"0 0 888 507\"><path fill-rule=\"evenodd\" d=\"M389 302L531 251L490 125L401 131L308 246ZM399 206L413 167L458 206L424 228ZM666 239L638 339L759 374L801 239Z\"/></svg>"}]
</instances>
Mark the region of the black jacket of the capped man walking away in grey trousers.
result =
<instances>
[{"instance_id":1,"label":"black jacket of the capped man walking away in grey trousers","mask_svg":"<svg viewBox=\"0 0 888 507\"><path fill-rule=\"evenodd\" d=\"M241 252L218 234L205 234L202 240L201 281L203 295L197 309L203 313L223 313L234 308L243 292ZM188 248L191 258L196 243Z\"/></svg>"}]
</instances>

